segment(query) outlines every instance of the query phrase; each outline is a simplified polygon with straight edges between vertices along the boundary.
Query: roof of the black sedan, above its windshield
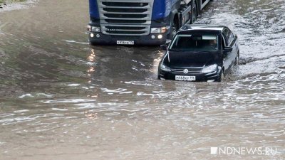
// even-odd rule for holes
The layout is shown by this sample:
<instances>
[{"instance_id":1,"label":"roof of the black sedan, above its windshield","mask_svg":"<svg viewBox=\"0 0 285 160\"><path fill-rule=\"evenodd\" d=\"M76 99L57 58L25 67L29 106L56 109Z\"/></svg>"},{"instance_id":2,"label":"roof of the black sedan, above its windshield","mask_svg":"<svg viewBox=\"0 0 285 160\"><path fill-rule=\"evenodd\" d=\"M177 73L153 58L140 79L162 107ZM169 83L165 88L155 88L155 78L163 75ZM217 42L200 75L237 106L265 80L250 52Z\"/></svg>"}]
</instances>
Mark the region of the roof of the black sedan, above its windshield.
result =
<instances>
[{"instance_id":1,"label":"roof of the black sedan, above its windshield","mask_svg":"<svg viewBox=\"0 0 285 160\"><path fill-rule=\"evenodd\" d=\"M209 24L186 24L182 26L178 32L192 32L192 31L212 31L212 32L222 32L226 26L209 25Z\"/></svg>"}]
</instances>

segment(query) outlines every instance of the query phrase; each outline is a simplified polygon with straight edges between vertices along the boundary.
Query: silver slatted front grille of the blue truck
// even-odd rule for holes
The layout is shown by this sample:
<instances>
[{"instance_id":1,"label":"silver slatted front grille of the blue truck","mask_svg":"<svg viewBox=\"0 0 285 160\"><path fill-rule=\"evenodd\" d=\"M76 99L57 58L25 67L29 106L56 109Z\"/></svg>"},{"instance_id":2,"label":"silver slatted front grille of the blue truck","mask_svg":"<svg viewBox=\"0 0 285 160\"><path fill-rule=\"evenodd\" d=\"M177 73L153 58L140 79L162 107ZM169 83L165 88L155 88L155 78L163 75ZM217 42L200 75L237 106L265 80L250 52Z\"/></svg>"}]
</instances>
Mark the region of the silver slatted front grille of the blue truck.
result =
<instances>
[{"instance_id":1,"label":"silver slatted front grille of the blue truck","mask_svg":"<svg viewBox=\"0 0 285 160\"><path fill-rule=\"evenodd\" d=\"M97 0L103 34L145 36L150 34L154 0Z\"/></svg>"}]
</instances>

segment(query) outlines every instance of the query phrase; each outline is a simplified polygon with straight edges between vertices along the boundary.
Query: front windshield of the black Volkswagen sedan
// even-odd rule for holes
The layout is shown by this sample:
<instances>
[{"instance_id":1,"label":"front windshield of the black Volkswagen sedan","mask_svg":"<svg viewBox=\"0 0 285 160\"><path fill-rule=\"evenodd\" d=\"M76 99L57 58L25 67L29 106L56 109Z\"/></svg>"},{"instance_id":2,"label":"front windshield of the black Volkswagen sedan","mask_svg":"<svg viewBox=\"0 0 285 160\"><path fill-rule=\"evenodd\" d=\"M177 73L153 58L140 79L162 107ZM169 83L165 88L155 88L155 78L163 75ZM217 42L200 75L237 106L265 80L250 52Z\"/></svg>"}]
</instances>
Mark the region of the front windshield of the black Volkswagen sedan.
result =
<instances>
[{"instance_id":1,"label":"front windshield of the black Volkswagen sedan","mask_svg":"<svg viewBox=\"0 0 285 160\"><path fill-rule=\"evenodd\" d=\"M177 34L170 44L170 50L216 51L218 36L211 34Z\"/></svg>"}]
</instances>

